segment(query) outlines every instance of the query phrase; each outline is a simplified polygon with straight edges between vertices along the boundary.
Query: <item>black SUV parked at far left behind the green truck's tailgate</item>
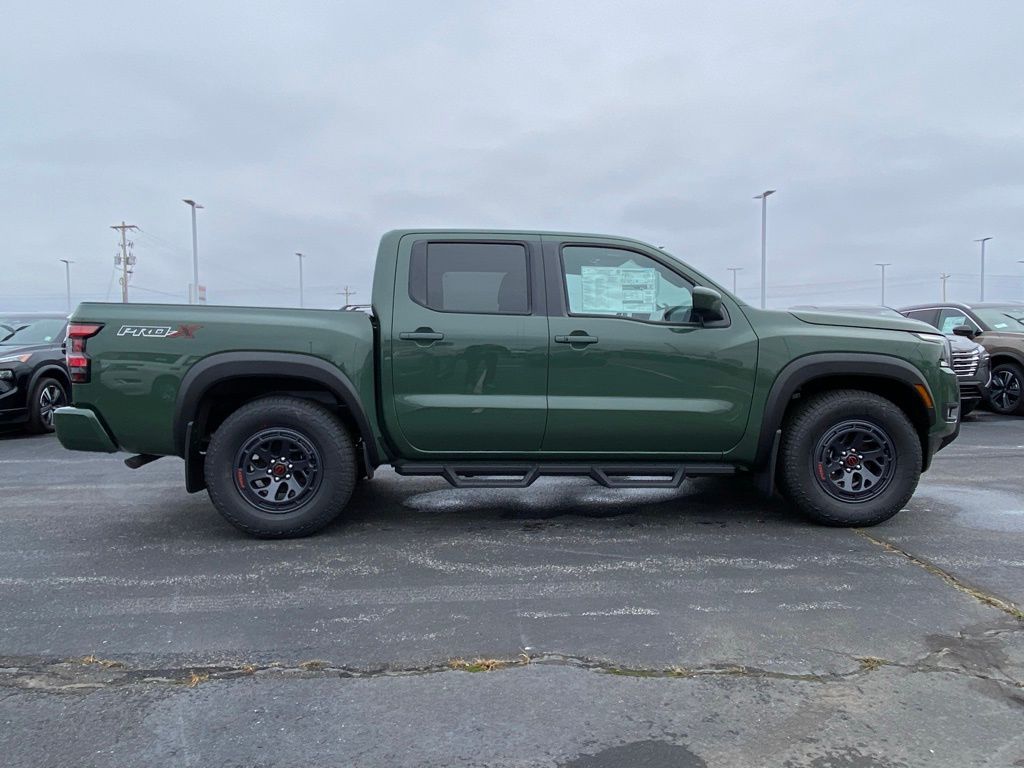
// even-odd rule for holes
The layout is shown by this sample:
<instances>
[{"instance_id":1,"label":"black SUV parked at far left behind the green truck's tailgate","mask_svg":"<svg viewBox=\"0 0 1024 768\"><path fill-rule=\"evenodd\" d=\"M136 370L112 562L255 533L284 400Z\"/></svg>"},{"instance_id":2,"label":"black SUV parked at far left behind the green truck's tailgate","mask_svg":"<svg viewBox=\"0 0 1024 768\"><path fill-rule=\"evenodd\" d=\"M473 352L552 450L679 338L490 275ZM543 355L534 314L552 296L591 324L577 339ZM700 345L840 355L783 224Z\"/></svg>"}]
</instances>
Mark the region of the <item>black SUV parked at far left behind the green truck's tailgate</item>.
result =
<instances>
[{"instance_id":1,"label":"black SUV parked at far left behind the green truck's tailgate","mask_svg":"<svg viewBox=\"0 0 1024 768\"><path fill-rule=\"evenodd\" d=\"M53 411L71 392L61 350L67 328L62 314L0 314L0 424L53 431Z\"/></svg>"}]
</instances>

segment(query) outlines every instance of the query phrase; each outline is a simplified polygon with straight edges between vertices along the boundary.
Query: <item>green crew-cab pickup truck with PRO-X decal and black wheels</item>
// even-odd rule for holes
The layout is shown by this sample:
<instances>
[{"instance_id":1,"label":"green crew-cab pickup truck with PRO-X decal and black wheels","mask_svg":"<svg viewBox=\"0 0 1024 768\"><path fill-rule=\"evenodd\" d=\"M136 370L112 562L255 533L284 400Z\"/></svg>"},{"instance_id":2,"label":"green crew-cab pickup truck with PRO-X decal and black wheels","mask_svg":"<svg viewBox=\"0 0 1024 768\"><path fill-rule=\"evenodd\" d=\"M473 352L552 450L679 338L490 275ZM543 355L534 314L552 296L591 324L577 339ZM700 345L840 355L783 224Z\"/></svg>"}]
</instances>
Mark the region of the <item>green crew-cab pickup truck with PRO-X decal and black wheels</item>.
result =
<instances>
[{"instance_id":1,"label":"green crew-cab pickup truck with PRO-X decal and black wheels","mask_svg":"<svg viewBox=\"0 0 1024 768\"><path fill-rule=\"evenodd\" d=\"M745 475L871 525L959 429L930 326L755 309L595 234L388 232L367 311L85 303L67 361L65 446L181 457L259 537L319 530L385 464L457 487Z\"/></svg>"}]
</instances>

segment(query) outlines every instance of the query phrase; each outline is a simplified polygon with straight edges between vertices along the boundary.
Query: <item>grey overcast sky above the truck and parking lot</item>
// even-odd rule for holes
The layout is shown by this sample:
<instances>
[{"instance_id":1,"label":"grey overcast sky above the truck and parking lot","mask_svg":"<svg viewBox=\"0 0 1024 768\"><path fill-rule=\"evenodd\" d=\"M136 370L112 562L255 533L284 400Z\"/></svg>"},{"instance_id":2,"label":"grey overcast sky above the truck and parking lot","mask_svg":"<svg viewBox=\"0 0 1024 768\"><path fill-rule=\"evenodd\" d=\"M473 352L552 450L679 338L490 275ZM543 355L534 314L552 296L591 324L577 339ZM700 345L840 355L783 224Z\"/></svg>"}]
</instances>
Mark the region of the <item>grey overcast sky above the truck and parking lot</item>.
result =
<instances>
[{"instance_id":1,"label":"grey overcast sky above the truck and parking lot","mask_svg":"<svg viewBox=\"0 0 1024 768\"><path fill-rule=\"evenodd\" d=\"M242 10L245 8L245 10ZM369 300L408 226L663 245L769 304L1024 299L1024 4L8 3L0 310ZM162 292L162 293L161 293Z\"/></svg>"}]
</instances>

